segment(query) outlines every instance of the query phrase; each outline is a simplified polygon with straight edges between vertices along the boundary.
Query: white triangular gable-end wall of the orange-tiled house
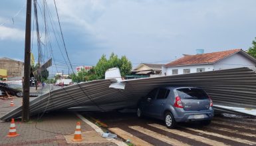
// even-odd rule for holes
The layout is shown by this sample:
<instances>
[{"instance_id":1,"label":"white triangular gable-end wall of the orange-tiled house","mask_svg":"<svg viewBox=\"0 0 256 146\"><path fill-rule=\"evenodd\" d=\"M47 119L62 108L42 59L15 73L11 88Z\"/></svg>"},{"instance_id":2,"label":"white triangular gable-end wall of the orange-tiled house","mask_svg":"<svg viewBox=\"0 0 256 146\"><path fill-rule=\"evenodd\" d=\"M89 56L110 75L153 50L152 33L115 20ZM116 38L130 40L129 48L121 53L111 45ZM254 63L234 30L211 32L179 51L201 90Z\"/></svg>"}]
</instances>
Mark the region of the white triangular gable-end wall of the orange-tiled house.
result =
<instances>
[{"instance_id":1,"label":"white triangular gable-end wall of the orange-tiled house","mask_svg":"<svg viewBox=\"0 0 256 146\"><path fill-rule=\"evenodd\" d=\"M220 60L219 62L216 62L213 65L214 70L224 70L229 68L241 68L241 67L247 67L251 68L252 70L256 70L255 63L251 60L247 59L245 56L243 56L240 53L233 54L232 56L229 56L227 58L224 58L223 60Z\"/></svg>"}]
</instances>

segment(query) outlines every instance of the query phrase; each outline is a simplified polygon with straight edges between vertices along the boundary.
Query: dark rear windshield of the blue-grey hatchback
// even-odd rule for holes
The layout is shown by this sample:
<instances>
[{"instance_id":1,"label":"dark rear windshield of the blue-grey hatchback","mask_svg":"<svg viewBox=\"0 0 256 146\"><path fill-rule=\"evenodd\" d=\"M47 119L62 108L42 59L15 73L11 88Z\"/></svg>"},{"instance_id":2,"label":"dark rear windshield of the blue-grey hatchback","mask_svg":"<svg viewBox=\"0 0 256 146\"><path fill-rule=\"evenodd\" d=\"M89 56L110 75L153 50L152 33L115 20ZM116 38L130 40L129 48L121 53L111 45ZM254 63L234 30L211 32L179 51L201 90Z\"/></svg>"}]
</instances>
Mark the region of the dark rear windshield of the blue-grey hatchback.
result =
<instances>
[{"instance_id":1,"label":"dark rear windshield of the blue-grey hatchback","mask_svg":"<svg viewBox=\"0 0 256 146\"><path fill-rule=\"evenodd\" d=\"M180 98L190 98L195 100L203 100L208 98L207 94L198 88L180 88L177 89L177 93Z\"/></svg>"}]
</instances>

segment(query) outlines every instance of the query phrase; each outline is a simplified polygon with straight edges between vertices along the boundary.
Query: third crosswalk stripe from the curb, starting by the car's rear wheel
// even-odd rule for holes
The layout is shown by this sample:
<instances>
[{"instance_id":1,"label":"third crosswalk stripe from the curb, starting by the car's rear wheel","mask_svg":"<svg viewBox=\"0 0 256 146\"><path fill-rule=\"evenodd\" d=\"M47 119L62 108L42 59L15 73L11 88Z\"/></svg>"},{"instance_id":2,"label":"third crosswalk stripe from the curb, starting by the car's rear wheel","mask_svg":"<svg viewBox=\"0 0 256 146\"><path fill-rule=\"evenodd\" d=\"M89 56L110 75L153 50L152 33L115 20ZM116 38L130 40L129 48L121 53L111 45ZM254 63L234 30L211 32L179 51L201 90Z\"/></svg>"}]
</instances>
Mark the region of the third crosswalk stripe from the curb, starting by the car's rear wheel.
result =
<instances>
[{"instance_id":1,"label":"third crosswalk stripe from the curb, starting by the car's rear wheel","mask_svg":"<svg viewBox=\"0 0 256 146\"><path fill-rule=\"evenodd\" d=\"M225 145L225 143L221 143L219 141L214 141L214 140L211 140L211 139L207 139L205 137L193 135L193 134L186 133L186 132L183 132L183 131L180 131L180 130L176 130L176 129L168 129L165 126L158 125L156 123L148 124L148 125L150 125L152 127L156 127L158 129L162 129L164 131L168 131L168 132L176 134L176 135L180 135L180 136L183 136L183 137L188 137L190 139L194 139L195 141L201 141L202 143L206 143L208 145Z\"/></svg>"}]
</instances>

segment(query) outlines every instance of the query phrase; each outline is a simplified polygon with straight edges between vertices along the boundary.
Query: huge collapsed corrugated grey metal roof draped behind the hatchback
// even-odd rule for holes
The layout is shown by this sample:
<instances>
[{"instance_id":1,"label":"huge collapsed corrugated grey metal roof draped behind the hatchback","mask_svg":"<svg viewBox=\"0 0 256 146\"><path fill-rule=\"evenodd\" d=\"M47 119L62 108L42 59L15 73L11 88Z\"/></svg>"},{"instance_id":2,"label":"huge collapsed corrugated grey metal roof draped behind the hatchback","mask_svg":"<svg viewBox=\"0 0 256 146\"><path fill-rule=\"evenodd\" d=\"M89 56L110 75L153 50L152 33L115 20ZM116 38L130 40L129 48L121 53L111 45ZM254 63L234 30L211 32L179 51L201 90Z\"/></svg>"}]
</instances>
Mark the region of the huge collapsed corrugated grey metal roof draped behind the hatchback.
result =
<instances>
[{"instance_id":1,"label":"huge collapsed corrugated grey metal roof draped behind the hatchback","mask_svg":"<svg viewBox=\"0 0 256 146\"><path fill-rule=\"evenodd\" d=\"M100 111L136 107L142 96L158 86L195 86L205 90L213 104L256 109L256 74L249 68L116 82L114 79L96 80L53 90L30 102L30 114L81 106ZM116 86L125 88L110 88ZM21 107L1 119L11 117L21 117Z\"/></svg>"}]
</instances>

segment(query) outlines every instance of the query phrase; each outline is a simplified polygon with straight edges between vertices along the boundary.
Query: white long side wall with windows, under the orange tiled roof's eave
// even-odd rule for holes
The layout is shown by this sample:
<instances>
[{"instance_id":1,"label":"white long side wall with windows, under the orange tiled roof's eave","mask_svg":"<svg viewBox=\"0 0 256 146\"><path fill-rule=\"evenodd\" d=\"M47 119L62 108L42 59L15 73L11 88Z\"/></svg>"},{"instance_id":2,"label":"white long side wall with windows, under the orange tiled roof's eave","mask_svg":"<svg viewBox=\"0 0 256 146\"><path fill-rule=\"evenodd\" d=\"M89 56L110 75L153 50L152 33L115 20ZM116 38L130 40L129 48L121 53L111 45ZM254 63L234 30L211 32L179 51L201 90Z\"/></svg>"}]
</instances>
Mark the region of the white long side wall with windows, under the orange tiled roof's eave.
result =
<instances>
[{"instance_id":1,"label":"white long side wall with windows, under the orange tiled roof's eave","mask_svg":"<svg viewBox=\"0 0 256 146\"><path fill-rule=\"evenodd\" d=\"M199 65L188 65L188 66L169 66L162 67L162 76L164 76L164 72L166 72L167 76L172 75L172 70L178 69L178 74L184 74L184 69L190 69L190 73L197 72L197 68L205 68L205 72L213 70L213 64L199 64Z\"/></svg>"}]
</instances>

